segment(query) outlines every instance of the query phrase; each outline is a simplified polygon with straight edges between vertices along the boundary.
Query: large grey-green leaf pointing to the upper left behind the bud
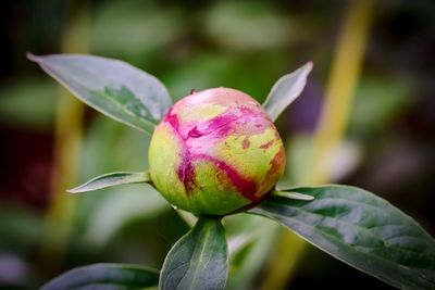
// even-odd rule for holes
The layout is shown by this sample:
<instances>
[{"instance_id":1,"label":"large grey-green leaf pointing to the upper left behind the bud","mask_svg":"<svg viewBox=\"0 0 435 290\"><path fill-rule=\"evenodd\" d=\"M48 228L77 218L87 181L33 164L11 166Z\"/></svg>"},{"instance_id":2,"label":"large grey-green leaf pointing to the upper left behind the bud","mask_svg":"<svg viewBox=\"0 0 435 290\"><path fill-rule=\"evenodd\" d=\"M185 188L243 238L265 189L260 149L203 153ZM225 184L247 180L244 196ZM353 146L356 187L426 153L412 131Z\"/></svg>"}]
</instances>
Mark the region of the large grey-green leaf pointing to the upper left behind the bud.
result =
<instances>
[{"instance_id":1,"label":"large grey-green leaf pointing to the upper left behind the bud","mask_svg":"<svg viewBox=\"0 0 435 290\"><path fill-rule=\"evenodd\" d=\"M27 58L83 102L150 135L171 106L162 83L125 62L80 54Z\"/></svg>"}]
</instances>

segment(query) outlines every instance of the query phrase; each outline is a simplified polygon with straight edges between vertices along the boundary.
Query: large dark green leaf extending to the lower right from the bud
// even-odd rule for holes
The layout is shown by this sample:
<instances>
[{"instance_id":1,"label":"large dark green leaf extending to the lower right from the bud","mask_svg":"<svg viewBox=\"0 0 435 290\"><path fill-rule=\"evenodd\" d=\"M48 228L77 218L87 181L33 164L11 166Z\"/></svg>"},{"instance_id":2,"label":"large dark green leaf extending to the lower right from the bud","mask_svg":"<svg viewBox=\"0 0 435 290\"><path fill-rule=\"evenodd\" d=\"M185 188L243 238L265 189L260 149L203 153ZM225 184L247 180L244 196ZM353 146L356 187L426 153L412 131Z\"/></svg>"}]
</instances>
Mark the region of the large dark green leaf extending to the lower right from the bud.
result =
<instances>
[{"instance_id":1,"label":"large dark green leaf extending to the lower right from the bud","mask_svg":"<svg viewBox=\"0 0 435 290\"><path fill-rule=\"evenodd\" d=\"M403 289L435 289L435 240L411 217L362 189L294 188L314 197L272 197L251 210L293 229L334 257Z\"/></svg>"}]
</instances>

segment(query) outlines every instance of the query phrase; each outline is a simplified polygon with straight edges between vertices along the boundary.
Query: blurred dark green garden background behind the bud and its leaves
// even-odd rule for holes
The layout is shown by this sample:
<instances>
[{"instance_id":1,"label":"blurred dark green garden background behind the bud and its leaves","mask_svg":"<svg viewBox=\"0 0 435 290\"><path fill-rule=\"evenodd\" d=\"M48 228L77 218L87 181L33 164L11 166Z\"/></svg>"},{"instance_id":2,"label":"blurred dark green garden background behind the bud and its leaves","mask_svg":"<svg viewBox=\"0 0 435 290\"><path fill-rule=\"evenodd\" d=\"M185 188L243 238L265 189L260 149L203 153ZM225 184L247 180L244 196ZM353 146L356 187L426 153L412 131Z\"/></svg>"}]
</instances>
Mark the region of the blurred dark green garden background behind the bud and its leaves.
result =
<instances>
[{"instance_id":1,"label":"blurred dark green garden background behind the bud and its leaves","mask_svg":"<svg viewBox=\"0 0 435 290\"><path fill-rule=\"evenodd\" d=\"M262 102L312 61L306 90L276 123L288 151L283 182L362 187L434 236L435 2L363 2L2 1L0 289L35 289L97 262L159 268L189 228L147 185L64 192L102 173L146 169L149 137L76 102L26 52L121 59L156 75L174 101L223 86ZM322 166L327 175L312 177ZM228 289L389 289L272 223L240 214L225 225Z\"/></svg>"}]
</instances>

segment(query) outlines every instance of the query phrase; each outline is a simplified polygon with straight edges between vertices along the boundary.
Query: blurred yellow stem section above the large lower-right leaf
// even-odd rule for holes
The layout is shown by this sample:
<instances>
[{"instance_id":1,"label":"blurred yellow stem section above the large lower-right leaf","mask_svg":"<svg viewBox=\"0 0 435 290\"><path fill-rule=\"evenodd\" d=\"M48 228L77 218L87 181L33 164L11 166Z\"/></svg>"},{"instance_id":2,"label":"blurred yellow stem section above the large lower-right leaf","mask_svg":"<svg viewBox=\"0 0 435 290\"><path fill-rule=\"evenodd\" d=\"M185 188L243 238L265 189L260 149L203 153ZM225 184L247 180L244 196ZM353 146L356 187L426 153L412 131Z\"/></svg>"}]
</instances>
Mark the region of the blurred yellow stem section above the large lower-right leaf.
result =
<instances>
[{"instance_id":1,"label":"blurred yellow stem section above the large lower-right leaf","mask_svg":"<svg viewBox=\"0 0 435 290\"><path fill-rule=\"evenodd\" d=\"M330 180L331 156L341 142L361 73L371 20L370 0L350 1L337 43L325 92L325 102L313 140L313 172L307 181Z\"/></svg>"}]
</instances>

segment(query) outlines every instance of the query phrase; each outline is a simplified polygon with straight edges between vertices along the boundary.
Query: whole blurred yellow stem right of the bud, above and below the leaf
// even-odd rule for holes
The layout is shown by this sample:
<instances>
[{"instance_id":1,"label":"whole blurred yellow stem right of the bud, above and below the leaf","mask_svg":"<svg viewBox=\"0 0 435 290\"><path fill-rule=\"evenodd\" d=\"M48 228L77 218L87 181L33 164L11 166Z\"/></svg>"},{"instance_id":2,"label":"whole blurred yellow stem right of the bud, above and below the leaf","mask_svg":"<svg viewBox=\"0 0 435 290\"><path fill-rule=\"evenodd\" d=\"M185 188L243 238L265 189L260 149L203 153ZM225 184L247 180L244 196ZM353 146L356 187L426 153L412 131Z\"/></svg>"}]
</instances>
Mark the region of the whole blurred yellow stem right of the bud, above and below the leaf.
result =
<instances>
[{"instance_id":1,"label":"whole blurred yellow stem right of the bud, above and below the leaf","mask_svg":"<svg viewBox=\"0 0 435 290\"><path fill-rule=\"evenodd\" d=\"M372 4L371 0L349 1L333 58L321 119L313 136L309 161L312 172L302 177L301 184L323 184L330 179L330 160L344 138L361 73ZM306 249L307 242L294 232L283 230L261 289L285 289Z\"/></svg>"}]
</instances>

